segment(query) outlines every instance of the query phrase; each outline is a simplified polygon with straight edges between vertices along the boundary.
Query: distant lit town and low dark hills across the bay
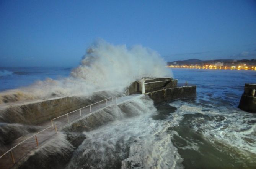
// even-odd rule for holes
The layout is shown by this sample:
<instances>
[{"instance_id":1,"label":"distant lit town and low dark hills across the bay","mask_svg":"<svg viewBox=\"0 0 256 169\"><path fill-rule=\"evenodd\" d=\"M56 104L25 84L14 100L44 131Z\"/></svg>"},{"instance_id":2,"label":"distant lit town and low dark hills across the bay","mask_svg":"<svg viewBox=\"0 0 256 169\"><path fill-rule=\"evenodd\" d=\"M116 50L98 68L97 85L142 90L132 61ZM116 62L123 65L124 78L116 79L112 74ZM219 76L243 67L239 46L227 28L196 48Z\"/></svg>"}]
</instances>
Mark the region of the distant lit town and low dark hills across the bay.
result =
<instances>
[{"instance_id":1,"label":"distant lit town and low dark hills across the bay","mask_svg":"<svg viewBox=\"0 0 256 169\"><path fill-rule=\"evenodd\" d=\"M202 61L199 59L188 59L184 61L168 62L166 67L189 68L189 69L231 69L231 70L255 70L256 59L218 59Z\"/></svg>"}]
</instances>

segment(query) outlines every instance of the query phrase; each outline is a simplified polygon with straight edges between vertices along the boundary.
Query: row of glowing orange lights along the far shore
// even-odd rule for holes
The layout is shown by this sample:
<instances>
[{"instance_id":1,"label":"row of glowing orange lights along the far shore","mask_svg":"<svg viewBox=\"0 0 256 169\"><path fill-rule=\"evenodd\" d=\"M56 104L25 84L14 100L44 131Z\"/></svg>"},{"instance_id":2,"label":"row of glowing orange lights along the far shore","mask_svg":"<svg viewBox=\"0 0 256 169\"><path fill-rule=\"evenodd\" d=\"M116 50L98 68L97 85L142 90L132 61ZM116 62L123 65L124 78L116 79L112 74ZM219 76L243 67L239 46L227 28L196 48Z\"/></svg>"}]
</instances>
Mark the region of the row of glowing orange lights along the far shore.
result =
<instances>
[{"instance_id":1,"label":"row of glowing orange lights along the far shore","mask_svg":"<svg viewBox=\"0 0 256 169\"><path fill-rule=\"evenodd\" d=\"M215 65L205 65L205 66L190 66L190 65L182 65L182 66L177 66L177 65L169 65L169 66L166 66L166 67L170 67L170 68L190 68L190 69L224 69L224 70L227 70L227 69L236 69L236 70L256 70L256 66L252 66L252 67L248 67L246 66L246 64L244 65L241 65L241 66L231 66L231 67L227 67L227 66L215 66Z\"/></svg>"}]
</instances>

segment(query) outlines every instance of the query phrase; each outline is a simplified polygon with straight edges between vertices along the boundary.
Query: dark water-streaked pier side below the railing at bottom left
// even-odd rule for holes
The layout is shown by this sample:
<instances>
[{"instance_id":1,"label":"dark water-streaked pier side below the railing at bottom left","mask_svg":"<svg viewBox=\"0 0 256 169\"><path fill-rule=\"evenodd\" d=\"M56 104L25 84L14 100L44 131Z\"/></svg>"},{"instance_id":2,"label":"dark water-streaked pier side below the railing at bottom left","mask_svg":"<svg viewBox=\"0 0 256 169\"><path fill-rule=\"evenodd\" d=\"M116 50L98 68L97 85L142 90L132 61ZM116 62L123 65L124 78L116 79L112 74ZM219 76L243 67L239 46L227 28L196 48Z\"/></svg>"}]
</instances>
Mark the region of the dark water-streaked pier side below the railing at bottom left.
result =
<instances>
[{"instance_id":1,"label":"dark water-streaked pier side below the railing at bottom left","mask_svg":"<svg viewBox=\"0 0 256 169\"><path fill-rule=\"evenodd\" d=\"M31 151L28 156L20 163L16 164L19 169L34 169L34 168L47 168L47 169L62 169L72 156L76 145L68 140L71 133L58 132L54 134L49 141L40 145L35 150ZM75 136L79 143L81 138ZM83 137L85 139L85 137Z\"/></svg>"}]
</instances>

